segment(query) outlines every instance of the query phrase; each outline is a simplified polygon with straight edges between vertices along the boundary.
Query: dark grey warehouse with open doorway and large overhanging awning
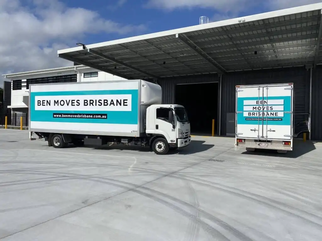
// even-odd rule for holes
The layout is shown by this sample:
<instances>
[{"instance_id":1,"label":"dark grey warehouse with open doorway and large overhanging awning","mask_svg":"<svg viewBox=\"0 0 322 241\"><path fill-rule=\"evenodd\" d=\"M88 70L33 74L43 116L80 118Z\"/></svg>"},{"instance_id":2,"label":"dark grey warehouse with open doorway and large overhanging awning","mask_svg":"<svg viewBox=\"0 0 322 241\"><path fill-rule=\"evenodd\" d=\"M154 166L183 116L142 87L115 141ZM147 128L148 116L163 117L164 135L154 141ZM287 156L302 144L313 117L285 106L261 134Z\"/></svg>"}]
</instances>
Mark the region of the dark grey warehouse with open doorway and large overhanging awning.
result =
<instances>
[{"instance_id":1,"label":"dark grey warehouse with open doorway and large overhanging awning","mask_svg":"<svg viewBox=\"0 0 322 241\"><path fill-rule=\"evenodd\" d=\"M322 3L58 51L126 79L161 85L192 132L235 133L235 86L294 83L296 133L322 140ZM301 138L301 134L298 135Z\"/></svg>"}]
</instances>

